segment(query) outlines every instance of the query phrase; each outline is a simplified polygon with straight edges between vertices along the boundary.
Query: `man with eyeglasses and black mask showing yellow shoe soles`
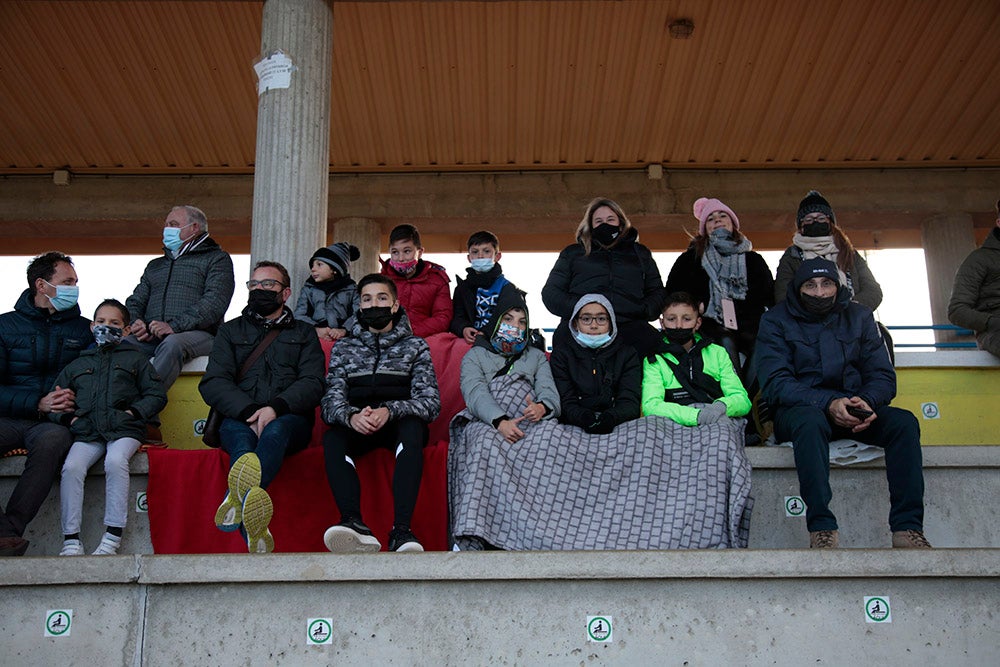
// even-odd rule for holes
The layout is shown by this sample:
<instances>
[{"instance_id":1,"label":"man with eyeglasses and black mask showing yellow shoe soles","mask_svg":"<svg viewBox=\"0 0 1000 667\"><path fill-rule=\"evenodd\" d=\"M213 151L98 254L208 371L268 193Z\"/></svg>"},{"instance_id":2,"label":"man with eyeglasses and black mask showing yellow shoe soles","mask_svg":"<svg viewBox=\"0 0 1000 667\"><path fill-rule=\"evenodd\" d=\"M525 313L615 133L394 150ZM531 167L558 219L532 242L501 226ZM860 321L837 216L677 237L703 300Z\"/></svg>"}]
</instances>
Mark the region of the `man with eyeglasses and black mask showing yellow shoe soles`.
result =
<instances>
[{"instance_id":1,"label":"man with eyeglasses and black mask showing yellow shoe soles","mask_svg":"<svg viewBox=\"0 0 1000 667\"><path fill-rule=\"evenodd\" d=\"M274 549L268 528L273 506L264 489L285 456L309 443L325 389L325 360L313 326L296 320L285 305L290 283L281 264L257 262L247 281L247 307L219 328L198 385L224 417L219 438L229 454L229 488L215 525L240 530L250 553Z\"/></svg>"}]
</instances>

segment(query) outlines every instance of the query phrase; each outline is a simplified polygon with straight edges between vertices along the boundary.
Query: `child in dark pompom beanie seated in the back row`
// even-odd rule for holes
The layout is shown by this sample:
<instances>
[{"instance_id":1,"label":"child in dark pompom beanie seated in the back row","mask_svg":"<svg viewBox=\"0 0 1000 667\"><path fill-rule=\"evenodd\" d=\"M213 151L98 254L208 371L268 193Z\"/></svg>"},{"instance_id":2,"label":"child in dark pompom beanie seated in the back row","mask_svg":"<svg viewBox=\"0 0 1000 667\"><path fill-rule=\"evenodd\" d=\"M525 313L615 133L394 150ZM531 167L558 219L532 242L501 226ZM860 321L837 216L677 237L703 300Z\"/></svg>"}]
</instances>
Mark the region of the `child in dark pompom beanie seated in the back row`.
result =
<instances>
[{"instance_id":1,"label":"child in dark pompom beanie seated in the back row","mask_svg":"<svg viewBox=\"0 0 1000 667\"><path fill-rule=\"evenodd\" d=\"M357 309L358 289L348 266L361 257L350 243L320 248L309 258L309 278L295 305L295 319L316 327L320 340L339 340L347 335Z\"/></svg>"}]
</instances>

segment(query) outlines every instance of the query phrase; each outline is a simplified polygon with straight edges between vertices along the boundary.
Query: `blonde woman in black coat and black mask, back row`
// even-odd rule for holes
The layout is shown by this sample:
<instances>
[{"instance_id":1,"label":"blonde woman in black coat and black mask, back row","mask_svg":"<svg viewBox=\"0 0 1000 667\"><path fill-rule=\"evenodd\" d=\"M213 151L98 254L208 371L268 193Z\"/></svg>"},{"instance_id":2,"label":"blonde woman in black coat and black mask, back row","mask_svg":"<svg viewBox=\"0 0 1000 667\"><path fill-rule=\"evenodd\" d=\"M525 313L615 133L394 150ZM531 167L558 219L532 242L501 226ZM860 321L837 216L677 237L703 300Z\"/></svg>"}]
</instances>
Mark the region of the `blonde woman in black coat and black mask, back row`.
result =
<instances>
[{"instance_id":1,"label":"blonde woman in black coat and black mask, back row","mask_svg":"<svg viewBox=\"0 0 1000 667\"><path fill-rule=\"evenodd\" d=\"M576 230L577 242L559 253L542 288L542 303L561 318L553 349L574 344L568 324L585 294L611 302L618 335L640 355L659 340L649 322L660 316L663 284L653 253L638 238L621 206L610 199L590 202Z\"/></svg>"}]
</instances>

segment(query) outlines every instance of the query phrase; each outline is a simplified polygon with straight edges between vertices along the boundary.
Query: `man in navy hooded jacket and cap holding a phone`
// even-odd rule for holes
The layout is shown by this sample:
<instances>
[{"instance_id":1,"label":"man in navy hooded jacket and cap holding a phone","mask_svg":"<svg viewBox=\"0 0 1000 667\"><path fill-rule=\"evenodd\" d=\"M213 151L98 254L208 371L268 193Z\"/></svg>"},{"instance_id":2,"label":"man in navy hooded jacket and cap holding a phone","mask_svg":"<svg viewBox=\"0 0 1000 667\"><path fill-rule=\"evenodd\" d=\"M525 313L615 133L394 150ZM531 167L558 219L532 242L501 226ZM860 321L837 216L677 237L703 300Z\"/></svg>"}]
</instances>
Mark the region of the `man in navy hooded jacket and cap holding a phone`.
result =
<instances>
[{"instance_id":1,"label":"man in navy hooded jacket and cap holding a phone","mask_svg":"<svg viewBox=\"0 0 1000 667\"><path fill-rule=\"evenodd\" d=\"M889 406L896 371L888 349L872 311L850 299L836 264L807 260L757 335L758 377L775 411L775 437L795 448L809 546L837 546L830 441L851 438L885 449L892 546L929 548L920 427L910 412Z\"/></svg>"}]
</instances>

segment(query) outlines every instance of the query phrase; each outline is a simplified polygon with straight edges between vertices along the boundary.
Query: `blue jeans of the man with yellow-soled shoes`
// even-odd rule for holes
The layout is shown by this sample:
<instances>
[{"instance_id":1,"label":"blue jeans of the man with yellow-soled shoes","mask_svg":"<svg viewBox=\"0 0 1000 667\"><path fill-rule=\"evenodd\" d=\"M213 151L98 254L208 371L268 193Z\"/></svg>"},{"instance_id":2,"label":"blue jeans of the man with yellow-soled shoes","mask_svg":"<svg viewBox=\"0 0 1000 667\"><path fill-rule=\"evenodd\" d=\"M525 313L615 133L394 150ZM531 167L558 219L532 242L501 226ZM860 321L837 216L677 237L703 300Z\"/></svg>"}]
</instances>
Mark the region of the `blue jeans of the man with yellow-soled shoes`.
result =
<instances>
[{"instance_id":1,"label":"blue jeans of the man with yellow-soled shoes","mask_svg":"<svg viewBox=\"0 0 1000 667\"><path fill-rule=\"evenodd\" d=\"M246 422L226 417L219 427L222 449L229 466L247 452L260 459L260 485L266 488L278 474L286 454L305 449L312 436L312 420L302 415L282 415L264 427L260 439Z\"/></svg>"}]
</instances>

